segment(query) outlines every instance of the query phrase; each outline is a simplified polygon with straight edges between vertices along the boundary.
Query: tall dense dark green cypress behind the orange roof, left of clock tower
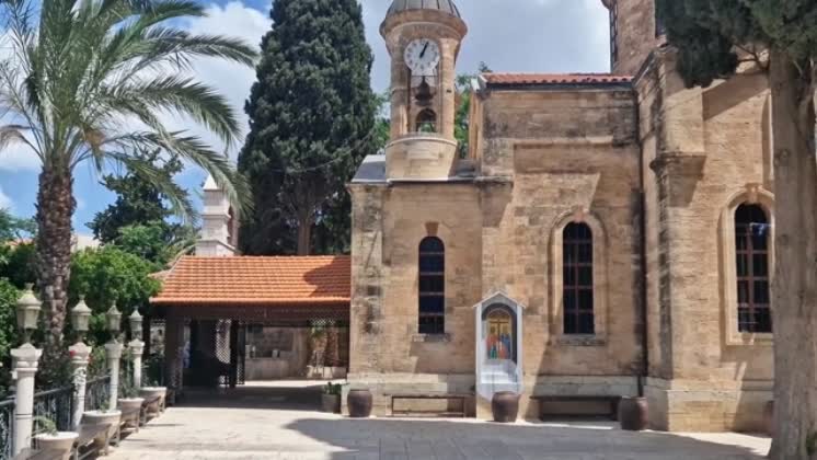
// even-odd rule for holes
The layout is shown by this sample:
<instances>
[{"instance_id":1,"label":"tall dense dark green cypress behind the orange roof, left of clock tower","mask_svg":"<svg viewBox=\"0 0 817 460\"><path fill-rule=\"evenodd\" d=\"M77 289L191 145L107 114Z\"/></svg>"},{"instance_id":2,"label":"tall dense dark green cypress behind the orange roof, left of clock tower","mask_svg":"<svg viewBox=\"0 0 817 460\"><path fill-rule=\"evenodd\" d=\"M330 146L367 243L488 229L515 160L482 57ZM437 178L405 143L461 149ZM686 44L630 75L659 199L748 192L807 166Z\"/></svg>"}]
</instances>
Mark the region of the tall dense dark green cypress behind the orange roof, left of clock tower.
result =
<instances>
[{"instance_id":1,"label":"tall dense dark green cypress behind the orange roof, left of clock tower","mask_svg":"<svg viewBox=\"0 0 817 460\"><path fill-rule=\"evenodd\" d=\"M348 248L345 189L375 153L371 49L357 0L276 0L262 41L239 169L254 211L242 227L248 254Z\"/></svg>"}]
</instances>

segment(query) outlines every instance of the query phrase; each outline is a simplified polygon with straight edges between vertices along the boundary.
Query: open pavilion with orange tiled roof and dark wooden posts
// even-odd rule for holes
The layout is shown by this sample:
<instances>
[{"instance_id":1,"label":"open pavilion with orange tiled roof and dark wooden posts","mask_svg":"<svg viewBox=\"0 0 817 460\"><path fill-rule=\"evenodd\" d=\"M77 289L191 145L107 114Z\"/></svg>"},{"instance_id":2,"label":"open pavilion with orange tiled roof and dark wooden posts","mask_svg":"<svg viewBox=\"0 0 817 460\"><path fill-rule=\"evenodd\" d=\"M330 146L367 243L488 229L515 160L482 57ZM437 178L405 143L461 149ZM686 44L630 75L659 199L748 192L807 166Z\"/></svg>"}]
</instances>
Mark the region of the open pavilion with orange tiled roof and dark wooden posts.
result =
<instances>
[{"instance_id":1,"label":"open pavilion with orange tiled roof and dark wooden posts","mask_svg":"<svg viewBox=\"0 0 817 460\"><path fill-rule=\"evenodd\" d=\"M150 300L151 318L165 322L165 383L184 387L185 325L192 334L229 336L229 383L234 386L243 363L241 324L347 325L349 296L348 256L183 257ZM228 324L229 335L218 335L217 327Z\"/></svg>"}]
</instances>

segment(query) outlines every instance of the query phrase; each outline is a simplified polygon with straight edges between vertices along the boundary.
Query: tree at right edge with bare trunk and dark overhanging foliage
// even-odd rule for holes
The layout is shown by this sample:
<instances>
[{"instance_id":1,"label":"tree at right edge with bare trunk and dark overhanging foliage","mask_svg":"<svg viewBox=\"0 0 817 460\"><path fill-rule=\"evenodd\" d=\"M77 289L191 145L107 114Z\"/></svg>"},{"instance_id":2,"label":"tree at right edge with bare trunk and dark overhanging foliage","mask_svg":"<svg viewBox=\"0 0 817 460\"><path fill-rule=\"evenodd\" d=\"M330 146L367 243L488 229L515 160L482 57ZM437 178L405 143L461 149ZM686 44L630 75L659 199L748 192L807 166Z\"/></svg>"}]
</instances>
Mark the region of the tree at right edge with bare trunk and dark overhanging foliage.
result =
<instances>
[{"instance_id":1,"label":"tree at right edge with bare trunk and dark overhanging foliage","mask_svg":"<svg viewBox=\"0 0 817 460\"><path fill-rule=\"evenodd\" d=\"M658 0L687 85L762 71L772 93L775 460L817 460L817 2ZM740 70L738 70L740 69Z\"/></svg>"}]
</instances>

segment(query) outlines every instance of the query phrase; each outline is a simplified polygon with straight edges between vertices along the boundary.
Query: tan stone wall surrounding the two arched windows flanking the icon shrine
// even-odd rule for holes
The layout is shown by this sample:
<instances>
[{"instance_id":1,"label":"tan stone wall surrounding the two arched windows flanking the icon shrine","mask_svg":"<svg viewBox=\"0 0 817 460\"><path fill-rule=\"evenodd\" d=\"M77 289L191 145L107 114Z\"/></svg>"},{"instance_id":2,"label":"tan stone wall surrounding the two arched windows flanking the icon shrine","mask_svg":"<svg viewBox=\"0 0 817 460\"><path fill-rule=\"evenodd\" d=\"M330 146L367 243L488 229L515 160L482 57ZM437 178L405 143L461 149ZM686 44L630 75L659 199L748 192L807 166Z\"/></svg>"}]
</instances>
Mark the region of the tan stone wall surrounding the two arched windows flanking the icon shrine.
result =
<instances>
[{"instance_id":1,"label":"tan stone wall surrounding the two arched windows flanking the icon shrine","mask_svg":"<svg viewBox=\"0 0 817 460\"><path fill-rule=\"evenodd\" d=\"M352 386L373 390L378 413L395 392L473 391L472 306L503 290L526 306L525 414L537 416L534 393L635 394L640 177L632 93L492 91L477 104L484 118L475 123L485 128L474 183L350 186ZM554 251L574 220L595 229L595 337L562 334ZM427 235L446 244L445 336L417 334L417 246Z\"/></svg>"}]
</instances>

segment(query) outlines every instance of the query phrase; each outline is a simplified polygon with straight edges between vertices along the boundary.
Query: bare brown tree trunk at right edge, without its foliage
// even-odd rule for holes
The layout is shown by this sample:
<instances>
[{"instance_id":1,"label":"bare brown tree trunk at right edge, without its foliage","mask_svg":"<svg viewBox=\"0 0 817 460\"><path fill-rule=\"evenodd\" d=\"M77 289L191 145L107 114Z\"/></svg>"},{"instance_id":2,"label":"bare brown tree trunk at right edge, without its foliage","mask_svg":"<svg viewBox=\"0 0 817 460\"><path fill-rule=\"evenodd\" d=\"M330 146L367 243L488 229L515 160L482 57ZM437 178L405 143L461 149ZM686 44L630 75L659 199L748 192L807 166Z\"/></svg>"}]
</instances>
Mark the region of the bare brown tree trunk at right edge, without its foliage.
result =
<instances>
[{"instance_id":1,"label":"bare brown tree trunk at right edge, without its foliage","mask_svg":"<svg viewBox=\"0 0 817 460\"><path fill-rule=\"evenodd\" d=\"M772 53L774 460L817 460L817 161L809 67Z\"/></svg>"}]
</instances>

